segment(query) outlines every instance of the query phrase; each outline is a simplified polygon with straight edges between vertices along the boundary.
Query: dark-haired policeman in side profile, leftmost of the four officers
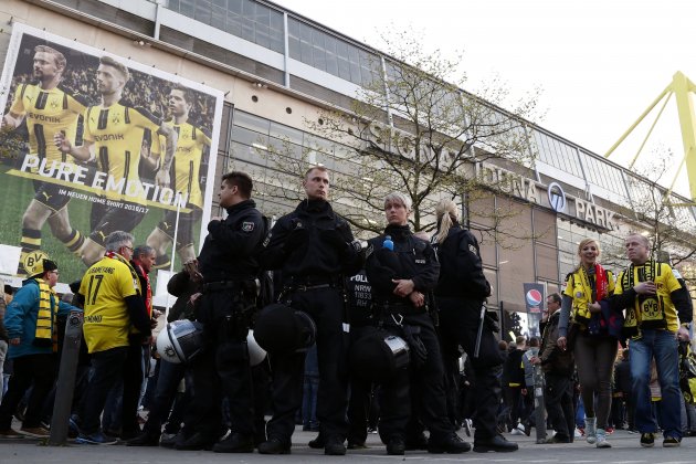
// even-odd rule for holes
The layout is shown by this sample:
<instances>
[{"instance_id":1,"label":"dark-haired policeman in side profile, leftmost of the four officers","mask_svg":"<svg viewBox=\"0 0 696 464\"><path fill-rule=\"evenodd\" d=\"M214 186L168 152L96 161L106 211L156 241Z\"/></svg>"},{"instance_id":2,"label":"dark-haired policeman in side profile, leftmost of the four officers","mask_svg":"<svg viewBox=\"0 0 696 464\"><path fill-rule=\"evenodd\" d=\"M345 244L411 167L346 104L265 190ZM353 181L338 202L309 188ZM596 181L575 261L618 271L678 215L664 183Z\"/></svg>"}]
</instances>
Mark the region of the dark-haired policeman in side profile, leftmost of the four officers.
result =
<instances>
[{"instance_id":1,"label":"dark-haired policeman in side profile, leftmost of the four officers","mask_svg":"<svg viewBox=\"0 0 696 464\"><path fill-rule=\"evenodd\" d=\"M191 366L194 392L179 433L177 450L213 445L220 453L254 451L254 408L246 335L256 302L259 264L254 253L265 235L265 223L251 199L252 179L232 171L222 176L220 205L226 219L212 218L198 262L187 263L202 281L197 319L203 324L205 352ZM230 404L234 431L223 441L221 399Z\"/></svg>"}]
</instances>

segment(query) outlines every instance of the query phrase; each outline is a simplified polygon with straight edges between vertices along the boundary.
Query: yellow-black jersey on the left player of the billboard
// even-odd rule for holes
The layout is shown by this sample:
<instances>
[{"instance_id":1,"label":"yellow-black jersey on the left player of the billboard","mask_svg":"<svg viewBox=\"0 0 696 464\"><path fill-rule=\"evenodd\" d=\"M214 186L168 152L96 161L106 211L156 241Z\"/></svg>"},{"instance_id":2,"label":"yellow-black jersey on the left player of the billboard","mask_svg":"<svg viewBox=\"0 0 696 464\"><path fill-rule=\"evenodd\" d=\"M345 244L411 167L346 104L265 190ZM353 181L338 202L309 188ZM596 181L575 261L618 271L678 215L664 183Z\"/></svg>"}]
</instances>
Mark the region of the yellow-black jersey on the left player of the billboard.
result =
<instances>
[{"instance_id":1,"label":"yellow-black jersey on the left player of the billboard","mask_svg":"<svg viewBox=\"0 0 696 464\"><path fill-rule=\"evenodd\" d=\"M74 140L77 131L77 119L85 110L78 99L60 87L44 91L38 85L20 84L14 94L10 113L24 116L29 133L31 154L52 161L72 162L73 158L62 154L53 144L53 136L59 131ZM36 168L32 168L36 171Z\"/></svg>"}]
</instances>

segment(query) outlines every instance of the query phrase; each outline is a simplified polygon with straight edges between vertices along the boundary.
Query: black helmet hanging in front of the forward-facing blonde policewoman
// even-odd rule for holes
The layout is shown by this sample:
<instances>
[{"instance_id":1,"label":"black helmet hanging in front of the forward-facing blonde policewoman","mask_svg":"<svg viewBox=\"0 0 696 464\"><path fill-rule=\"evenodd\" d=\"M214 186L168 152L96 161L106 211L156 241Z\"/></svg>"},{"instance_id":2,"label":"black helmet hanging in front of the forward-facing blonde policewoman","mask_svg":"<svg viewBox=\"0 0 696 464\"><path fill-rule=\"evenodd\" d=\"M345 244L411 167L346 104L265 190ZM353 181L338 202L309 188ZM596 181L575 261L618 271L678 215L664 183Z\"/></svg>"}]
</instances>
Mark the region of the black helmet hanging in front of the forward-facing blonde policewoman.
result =
<instances>
[{"instance_id":1,"label":"black helmet hanging in front of the forward-facing blonde policewoman","mask_svg":"<svg viewBox=\"0 0 696 464\"><path fill-rule=\"evenodd\" d=\"M383 382L409 365L409 345L400 337L375 328L350 346L349 362L355 376Z\"/></svg>"}]
</instances>

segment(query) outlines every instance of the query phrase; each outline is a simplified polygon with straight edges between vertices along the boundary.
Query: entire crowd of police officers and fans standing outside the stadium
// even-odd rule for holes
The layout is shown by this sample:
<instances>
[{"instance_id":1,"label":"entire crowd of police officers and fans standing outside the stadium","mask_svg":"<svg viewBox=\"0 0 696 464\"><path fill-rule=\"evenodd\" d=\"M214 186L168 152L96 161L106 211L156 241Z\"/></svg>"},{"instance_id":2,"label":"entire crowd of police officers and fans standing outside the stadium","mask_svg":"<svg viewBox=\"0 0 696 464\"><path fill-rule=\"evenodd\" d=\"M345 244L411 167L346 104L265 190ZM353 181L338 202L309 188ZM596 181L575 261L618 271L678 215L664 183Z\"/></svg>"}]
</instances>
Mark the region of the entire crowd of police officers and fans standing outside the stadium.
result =
<instances>
[{"instance_id":1,"label":"entire crowd of police officers and fans standing outside the stadium","mask_svg":"<svg viewBox=\"0 0 696 464\"><path fill-rule=\"evenodd\" d=\"M504 433L542 425L555 431L549 443L580 435L601 449L624 423L642 446L660 430L663 446L678 446L696 429L693 397L681 392L690 298L668 264L650 260L643 235L626 239L631 265L616 280L599 264L599 243L580 242L562 295L547 298L541 338L518 337L508 349L485 307L492 288L478 243L453 201L440 201L436 230L423 238L409 226L410 198L392 192L384 231L361 242L331 209L325 167L310 168L303 187L306 199L270 229L252 179L222 176L226 215L210 220L200 253L168 283L177 302L158 336L143 426L156 251L112 232L72 285L72 304L53 289L57 263L28 270L0 327L13 363L0 436L50 434L57 335L70 312L84 315L76 443L288 454L299 422L318 431L309 446L327 455L365 447L375 425L387 454L458 454L516 451ZM629 347L620 361L619 344ZM534 412L540 384L548 424ZM471 425L473 446L457 434Z\"/></svg>"}]
</instances>

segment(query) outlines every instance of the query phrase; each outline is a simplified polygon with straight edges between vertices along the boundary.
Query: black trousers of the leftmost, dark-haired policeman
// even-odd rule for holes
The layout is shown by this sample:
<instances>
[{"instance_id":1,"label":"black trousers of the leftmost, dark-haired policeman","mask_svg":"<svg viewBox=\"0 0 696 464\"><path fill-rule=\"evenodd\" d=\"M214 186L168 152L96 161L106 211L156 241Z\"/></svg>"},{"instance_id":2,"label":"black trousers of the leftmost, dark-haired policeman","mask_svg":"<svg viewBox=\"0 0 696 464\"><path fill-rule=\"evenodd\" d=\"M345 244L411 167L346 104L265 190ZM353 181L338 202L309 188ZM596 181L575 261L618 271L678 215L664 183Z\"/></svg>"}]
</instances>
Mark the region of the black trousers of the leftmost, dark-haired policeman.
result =
<instances>
[{"instance_id":1,"label":"black trousers of the leftmost, dark-haired policeman","mask_svg":"<svg viewBox=\"0 0 696 464\"><path fill-rule=\"evenodd\" d=\"M205 352L190 366L193 377L191 403L183 419L183 433L202 433L213 443L221 434L222 398L226 397L235 432L254 434L254 402L244 316L253 298L242 289L204 293L198 320L203 324Z\"/></svg>"}]
</instances>

